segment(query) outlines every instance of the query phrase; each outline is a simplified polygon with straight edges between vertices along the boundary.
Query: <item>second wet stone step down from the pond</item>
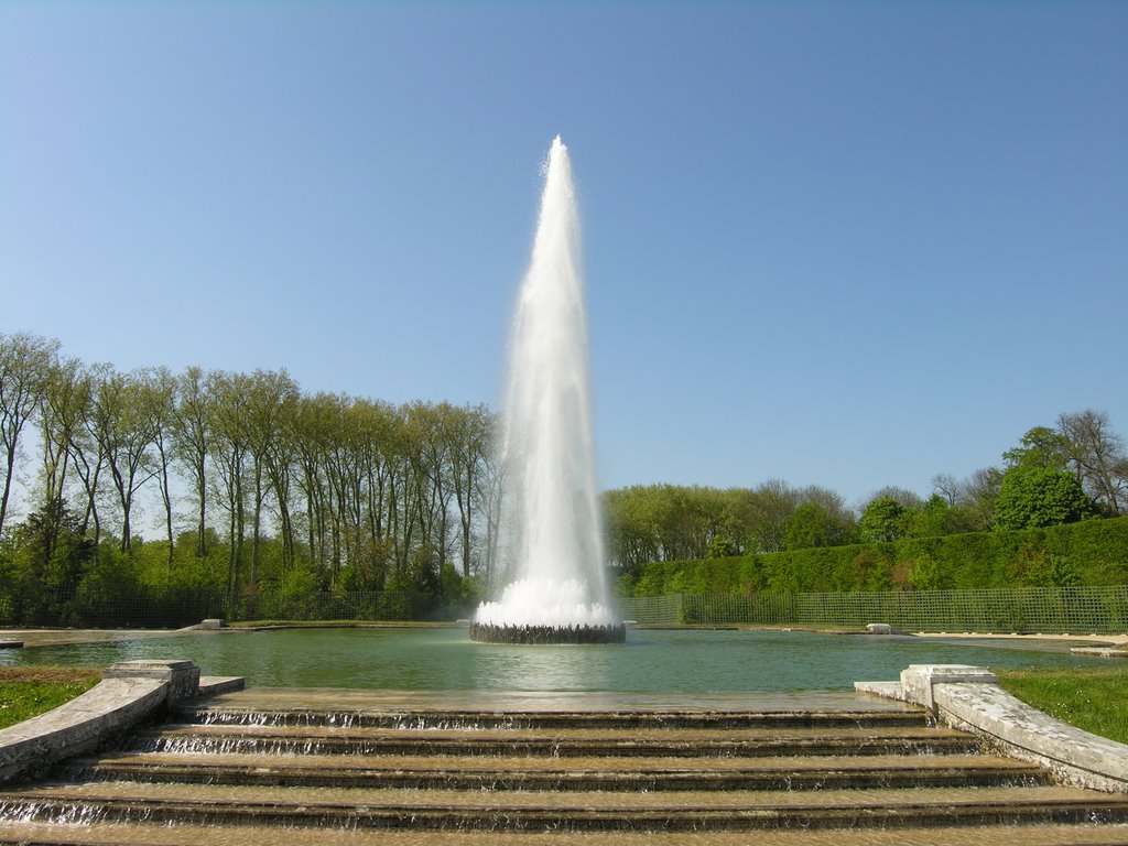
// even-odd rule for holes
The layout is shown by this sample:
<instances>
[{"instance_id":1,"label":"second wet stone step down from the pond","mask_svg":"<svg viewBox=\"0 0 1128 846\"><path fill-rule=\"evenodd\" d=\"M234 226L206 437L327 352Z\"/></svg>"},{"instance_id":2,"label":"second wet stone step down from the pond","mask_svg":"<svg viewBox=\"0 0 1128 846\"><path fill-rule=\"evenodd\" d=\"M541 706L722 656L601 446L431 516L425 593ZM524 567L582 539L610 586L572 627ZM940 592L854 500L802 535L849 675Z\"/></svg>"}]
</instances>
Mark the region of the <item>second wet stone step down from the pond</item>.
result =
<instances>
[{"instance_id":1,"label":"second wet stone step down from the pond","mask_svg":"<svg viewBox=\"0 0 1128 846\"><path fill-rule=\"evenodd\" d=\"M328 726L166 725L138 732L127 751L258 755L547 757L763 757L787 755L952 755L979 749L971 735L899 729L413 730Z\"/></svg>"}]
</instances>

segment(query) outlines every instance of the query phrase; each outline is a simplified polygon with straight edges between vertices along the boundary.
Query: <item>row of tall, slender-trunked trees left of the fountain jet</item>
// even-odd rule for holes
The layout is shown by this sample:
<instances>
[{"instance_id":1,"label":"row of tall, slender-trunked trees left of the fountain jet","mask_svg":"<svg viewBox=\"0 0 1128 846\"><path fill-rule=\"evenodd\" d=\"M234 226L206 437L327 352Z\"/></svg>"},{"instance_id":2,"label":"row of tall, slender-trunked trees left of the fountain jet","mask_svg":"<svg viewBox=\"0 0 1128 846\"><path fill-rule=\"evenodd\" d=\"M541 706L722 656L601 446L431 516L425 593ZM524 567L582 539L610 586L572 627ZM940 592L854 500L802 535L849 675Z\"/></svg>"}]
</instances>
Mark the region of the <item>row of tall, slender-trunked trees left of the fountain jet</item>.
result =
<instances>
[{"instance_id":1,"label":"row of tall, slender-trunked trees left of the fountain jet","mask_svg":"<svg viewBox=\"0 0 1128 846\"><path fill-rule=\"evenodd\" d=\"M457 592L496 558L493 428L483 405L305 394L284 370L121 372L0 335L0 565L77 580L144 561L149 581L232 597L264 581ZM159 503L157 550L139 543L142 501Z\"/></svg>"}]
</instances>

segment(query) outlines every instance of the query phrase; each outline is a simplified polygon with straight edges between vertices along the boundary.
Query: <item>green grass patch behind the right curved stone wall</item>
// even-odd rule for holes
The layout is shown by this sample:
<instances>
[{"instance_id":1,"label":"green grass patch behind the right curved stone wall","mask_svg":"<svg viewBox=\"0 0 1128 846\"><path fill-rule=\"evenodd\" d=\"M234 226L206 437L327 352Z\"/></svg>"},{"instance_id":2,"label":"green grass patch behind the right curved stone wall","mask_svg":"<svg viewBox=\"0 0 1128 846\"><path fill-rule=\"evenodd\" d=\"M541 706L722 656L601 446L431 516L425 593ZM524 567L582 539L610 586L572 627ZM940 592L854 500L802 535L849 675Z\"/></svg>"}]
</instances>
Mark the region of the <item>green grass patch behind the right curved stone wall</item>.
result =
<instances>
[{"instance_id":1,"label":"green grass patch behind the right curved stone wall","mask_svg":"<svg viewBox=\"0 0 1128 846\"><path fill-rule=\"evenodd\" d=\"M998 670L1003 688L1078 729L1128 743L1128 666Z\"/></svg>"}]
</instances>

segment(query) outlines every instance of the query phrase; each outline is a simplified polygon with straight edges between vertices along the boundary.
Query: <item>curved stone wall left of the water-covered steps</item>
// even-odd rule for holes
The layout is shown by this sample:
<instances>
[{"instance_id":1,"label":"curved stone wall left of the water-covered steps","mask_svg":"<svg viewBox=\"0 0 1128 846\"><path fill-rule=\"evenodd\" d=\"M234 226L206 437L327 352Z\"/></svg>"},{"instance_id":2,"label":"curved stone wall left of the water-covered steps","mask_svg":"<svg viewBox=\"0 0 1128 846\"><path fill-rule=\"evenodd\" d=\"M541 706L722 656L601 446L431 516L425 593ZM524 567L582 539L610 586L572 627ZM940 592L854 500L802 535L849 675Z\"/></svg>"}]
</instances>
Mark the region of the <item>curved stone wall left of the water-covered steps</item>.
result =
<instances>
[{"instance_id":1,"label":"curved stone wall left of the water-covered steps","mask_svg":"<svg viewBox=\"0 0 1128 846\"><path fill-rule=\"evenodd\" d=\"M243 687L241 678L201 678L191 661L115 663L81 696L0 730L0 784L41 776L63 758L98 749L171 705Z\"/></svg>"}]
</instances>

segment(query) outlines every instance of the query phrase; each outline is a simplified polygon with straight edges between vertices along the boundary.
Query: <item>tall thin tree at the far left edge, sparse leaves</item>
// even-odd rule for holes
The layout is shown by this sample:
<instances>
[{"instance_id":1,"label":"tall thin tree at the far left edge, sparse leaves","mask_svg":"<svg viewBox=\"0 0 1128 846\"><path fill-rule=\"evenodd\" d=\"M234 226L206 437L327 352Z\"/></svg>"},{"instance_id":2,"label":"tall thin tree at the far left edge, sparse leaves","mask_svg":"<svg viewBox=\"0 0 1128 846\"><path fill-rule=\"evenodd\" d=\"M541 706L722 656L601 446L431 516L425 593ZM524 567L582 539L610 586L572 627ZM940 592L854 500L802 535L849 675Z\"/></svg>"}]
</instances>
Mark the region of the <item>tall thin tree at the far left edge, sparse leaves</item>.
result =
<instances>
[{"instance_id":1,"label":"tall thin tree at the far left edge, sparse leaves","mask_svg":"<svg viewBox=\"0 0 1128 846\"><path fill-rule=\"evenodd\" d=\"M20 434L43 402L58 352L58 341L27 333L0 335L0 448L3 449L0 531L8 517Z\"/></svg>"}]
</instances>

